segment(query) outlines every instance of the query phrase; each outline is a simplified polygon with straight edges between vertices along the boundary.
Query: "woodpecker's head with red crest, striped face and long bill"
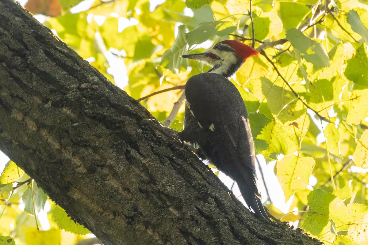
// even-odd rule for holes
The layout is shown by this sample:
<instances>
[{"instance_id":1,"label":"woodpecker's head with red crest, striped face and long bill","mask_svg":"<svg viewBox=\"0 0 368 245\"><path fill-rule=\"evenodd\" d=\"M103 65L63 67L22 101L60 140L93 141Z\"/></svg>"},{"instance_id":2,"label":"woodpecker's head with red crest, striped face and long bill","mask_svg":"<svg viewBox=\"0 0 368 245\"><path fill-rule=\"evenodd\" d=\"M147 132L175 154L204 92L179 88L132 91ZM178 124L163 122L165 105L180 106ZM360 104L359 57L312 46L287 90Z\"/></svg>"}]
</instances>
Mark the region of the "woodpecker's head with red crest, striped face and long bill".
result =
<instances>
[{"instance_id":1,"label":"woodpecker's head with red crest, striped face and long bill","mask_svg":"<svg viewBox=\"0 0 368 245\"><path fill-rule=\"evenodd\" d=\"M259 52L254 48L237 40L224 40L203 53L186 54L181 55L181 57L204 61L213 66L208 72L218 73L229 78L243 65L247 58L258 54Z\"/></svg>"}]
</instances>

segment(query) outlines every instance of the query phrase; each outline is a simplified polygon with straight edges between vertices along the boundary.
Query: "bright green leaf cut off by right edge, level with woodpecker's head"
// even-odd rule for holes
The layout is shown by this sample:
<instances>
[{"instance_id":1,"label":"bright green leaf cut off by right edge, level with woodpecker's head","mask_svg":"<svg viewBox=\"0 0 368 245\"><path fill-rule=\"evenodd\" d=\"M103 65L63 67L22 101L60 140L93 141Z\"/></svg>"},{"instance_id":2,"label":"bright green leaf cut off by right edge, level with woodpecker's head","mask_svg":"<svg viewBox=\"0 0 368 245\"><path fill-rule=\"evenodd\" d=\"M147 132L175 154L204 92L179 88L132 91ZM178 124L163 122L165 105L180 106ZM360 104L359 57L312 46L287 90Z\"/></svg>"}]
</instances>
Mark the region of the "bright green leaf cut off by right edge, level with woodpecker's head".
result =
<instances>
[{"instance_id":1,"label":"bright green leaf cut off by right edge, level with woodpecker's head","mask_svg":"<svg viewBox=\"0 0 368 245\"><path fill-rule=\"evenodd\" d=\"M363 86L368 86L368 58L367 48L363 43L355 53L354 58L347 61L344 75L350 81Z\"/></svg>"}]
</instances>

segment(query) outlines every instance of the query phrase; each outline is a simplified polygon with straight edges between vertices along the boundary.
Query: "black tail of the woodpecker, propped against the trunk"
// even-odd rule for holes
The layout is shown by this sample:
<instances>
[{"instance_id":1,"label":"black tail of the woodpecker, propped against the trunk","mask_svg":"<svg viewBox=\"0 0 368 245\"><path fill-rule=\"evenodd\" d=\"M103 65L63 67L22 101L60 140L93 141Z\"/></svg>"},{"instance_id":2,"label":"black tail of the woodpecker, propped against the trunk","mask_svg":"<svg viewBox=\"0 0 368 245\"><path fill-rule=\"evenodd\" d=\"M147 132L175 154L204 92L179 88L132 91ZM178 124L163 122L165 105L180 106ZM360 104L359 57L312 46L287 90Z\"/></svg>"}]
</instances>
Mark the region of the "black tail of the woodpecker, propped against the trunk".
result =
<instances>
[{"instance_id":1,"label":"black tail of the woodpecker, propped against the trunk","mask_svg":"<svg viewBox=\"0 0 368 245\"><path fill-rule=\"evenodd\" d=\"M247 203L248 207L255 212L257 217L263 217L267 223L276 225L267 215L265 208L262 205L261 198L259 198L250 186L244 180L237 180L240 193Z\"/></svg>"}]
</instances>

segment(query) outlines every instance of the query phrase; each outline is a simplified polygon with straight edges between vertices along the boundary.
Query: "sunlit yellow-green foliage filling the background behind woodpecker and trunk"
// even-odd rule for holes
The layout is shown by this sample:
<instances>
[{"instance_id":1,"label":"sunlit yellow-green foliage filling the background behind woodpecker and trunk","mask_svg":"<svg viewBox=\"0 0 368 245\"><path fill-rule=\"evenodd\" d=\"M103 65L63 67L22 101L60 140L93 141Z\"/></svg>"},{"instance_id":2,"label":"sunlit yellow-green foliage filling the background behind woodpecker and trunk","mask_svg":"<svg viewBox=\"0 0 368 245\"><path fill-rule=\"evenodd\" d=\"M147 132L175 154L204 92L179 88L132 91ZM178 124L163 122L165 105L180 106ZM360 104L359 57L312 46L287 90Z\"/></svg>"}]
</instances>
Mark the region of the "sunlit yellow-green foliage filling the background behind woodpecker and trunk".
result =
<instances>
[{"instance_id":1,"label":"sunlit yellow-green foliage filling the background behind woodpecker and trunk","mask_svg":"<svg viewBox=\"0 0 368 245\"><path fill-rule=\"evenodd\" d=\"M54 35L178 131L183 85L209 69L180 55L226 39L254 46L261 54L231 82L256 154L276 161L291 203L288 212L265 206L325 244L368 244L366 1L29 0L25 7L49 15L43 24ZM0 184L0 244L69 245L89 233L16 163L7 163Z\"/></svg>"}]
</instances>

